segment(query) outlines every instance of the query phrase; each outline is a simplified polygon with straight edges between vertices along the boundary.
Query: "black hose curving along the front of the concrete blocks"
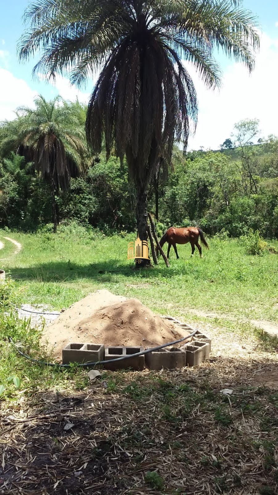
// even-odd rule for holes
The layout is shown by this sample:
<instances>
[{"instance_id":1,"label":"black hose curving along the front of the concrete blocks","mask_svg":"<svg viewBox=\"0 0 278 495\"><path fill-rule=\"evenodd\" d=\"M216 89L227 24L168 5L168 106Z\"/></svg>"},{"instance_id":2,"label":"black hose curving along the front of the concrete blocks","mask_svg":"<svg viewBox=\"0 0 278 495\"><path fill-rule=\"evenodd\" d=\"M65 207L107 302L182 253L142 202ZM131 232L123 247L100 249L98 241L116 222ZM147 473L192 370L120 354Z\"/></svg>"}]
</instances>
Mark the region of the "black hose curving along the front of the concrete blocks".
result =
<instances>
[{"instance_id":1,"label":"black hose curving along the front of the concrete blocks","mask_svg":"<svg viewBox=\"0 0 278 495\"><path fill-rule=\"evenodd\" d=\"M174 346L175 344L179 344L180 342L183 342L187 339L190 339L191 337L194 337L196 332L197 332L197 330L194 330L194 332L192 332L190 335L187 335L186 337L183 337L182 339L179 339L179 340L176 340L173 342L169 342L168 344L163 344L162 346L150 347L149 349L142 350L141 352L136 352L135 354L129 354L128 356L116 357L115 359L109 359L109 361L96 361L96 362L90 361L88 363L76 363L76 366L78 368L85 368L88 366L96 366L99 364L113 363L115 361L123 361L124 359L130 359L131 357L135 357L135 356L142 356L143 354L147 354L148 352L152 352L154 350L159 350L159 349L163 349L164 347L169 347L169 346ZM19 350L16 347L16 345L13 343L11 337L8 337L8 340L13 345L15 350L21 356L25 357L26 359L30 359L30 361L33 361L34 363L43 364L44 366L58 366L60 368L71 368L72 367L71 364L48 363L47 361L40 361L39 359L34 359L33 357L27 356L27 354L24 354L23 352L21 352L21 350Z\"/></svg>"}]
</instances>

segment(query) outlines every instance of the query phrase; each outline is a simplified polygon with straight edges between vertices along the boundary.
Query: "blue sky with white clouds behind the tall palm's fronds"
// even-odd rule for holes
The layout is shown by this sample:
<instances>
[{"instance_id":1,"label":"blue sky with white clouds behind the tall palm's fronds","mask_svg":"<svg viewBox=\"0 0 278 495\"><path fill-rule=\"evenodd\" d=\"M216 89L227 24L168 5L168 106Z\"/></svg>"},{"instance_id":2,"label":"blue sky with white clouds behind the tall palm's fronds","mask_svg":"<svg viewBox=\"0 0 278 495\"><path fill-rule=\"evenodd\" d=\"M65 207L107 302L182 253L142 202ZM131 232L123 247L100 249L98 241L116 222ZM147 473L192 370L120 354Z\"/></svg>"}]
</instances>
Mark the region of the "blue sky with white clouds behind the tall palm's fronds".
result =
<instances>
[{"instance_id":1,"label":"blue sky with white clouds behind the tall palm's fronds","mask_svg":"<svg viewBox=\"0 0 278 495\"><path fill-rule=\"evenodd\" d=\"M35 59L24 64L18 62L16 47L24 30L22 15L28 4L28 0L0 0L0 120L12 118L13 110L20 104L31 105L38 93L46 98L60 93L66 99L78 96L87 101L93 87L93 81L89 81L87 88L80 92L60 77L55 88L32 78ZM249 76L240 64L219 54L217 59L223 71L219 93L205 90L192 73L199 117L189 148L218 148L231 135L233 124L242 118L258 118L264 137L271 133L278 135L278 1L244 0L243 6L258 15L262 28L256 69Z\"/></svg>"}]
</instances>

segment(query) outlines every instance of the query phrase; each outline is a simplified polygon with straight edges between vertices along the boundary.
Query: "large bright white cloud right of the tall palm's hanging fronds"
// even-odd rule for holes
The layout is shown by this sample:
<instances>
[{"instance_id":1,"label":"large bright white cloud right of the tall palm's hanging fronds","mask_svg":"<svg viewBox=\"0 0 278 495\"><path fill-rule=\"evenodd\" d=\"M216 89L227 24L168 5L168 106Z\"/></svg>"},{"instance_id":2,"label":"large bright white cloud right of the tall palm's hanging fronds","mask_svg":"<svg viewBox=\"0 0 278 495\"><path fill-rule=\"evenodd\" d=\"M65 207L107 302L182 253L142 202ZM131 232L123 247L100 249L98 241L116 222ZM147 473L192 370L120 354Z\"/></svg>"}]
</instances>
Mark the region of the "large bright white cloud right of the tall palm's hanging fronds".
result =
<instances>
[{"instance_id":1,"label":"large bright white cloud right of the tall palm's hanging fronds","mask_svg":"<svg viewBox=\"0 0 278 495\"><path fill-rule=\"evenodd\" d=\"M258 118L262 136L278 135L278 39L261 37L260 53L253 73L242 64L231 63L223 75L220 91L210 91L189 68L199 101L196 134L188 149L216 149L229 138L233 125L244 118Z\"/></svg>"}]
</instances>

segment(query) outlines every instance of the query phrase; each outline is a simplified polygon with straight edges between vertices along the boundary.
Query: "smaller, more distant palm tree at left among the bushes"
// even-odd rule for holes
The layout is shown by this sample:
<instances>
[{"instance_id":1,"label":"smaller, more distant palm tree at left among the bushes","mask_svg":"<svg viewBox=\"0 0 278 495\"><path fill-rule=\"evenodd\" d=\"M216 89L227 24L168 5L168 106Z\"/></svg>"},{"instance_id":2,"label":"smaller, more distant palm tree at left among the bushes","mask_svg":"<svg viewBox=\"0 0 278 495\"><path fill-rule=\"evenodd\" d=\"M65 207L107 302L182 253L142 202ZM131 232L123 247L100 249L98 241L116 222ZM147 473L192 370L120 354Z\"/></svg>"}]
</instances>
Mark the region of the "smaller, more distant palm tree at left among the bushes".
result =
<instances>
[{"instance_id":1,"label":"smaller, more distant palm tree at left among the bushes","mask_svg":"<svg viewBox=\"0 0 278 495\"><path fill-rule=\"evenodd\" d=\"M58 104L60 99L46 101L39 96L35 109L19 107L17 119L5 122L1 130L2 148L33 161L49 183L54 232L59 222L55 196L78 175L85 156L85 132L71 105Z\"/></svg>"}]
</instances>

